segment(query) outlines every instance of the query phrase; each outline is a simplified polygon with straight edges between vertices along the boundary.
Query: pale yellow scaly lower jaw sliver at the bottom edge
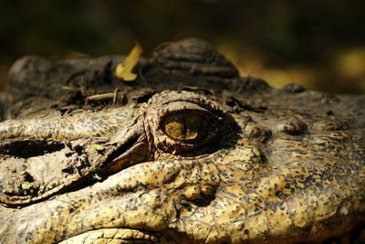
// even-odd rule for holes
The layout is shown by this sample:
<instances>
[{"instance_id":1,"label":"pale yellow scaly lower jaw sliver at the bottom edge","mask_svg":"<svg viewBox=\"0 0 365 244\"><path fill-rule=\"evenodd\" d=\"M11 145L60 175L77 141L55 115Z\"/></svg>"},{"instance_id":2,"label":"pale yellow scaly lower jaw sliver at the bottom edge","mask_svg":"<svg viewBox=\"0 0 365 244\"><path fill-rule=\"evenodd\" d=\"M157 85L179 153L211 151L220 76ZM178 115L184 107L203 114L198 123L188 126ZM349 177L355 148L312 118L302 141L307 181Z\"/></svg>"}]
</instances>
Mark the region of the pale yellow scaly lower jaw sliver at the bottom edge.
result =
<instances>
[{"instance_id":1,"label":"pale yellow scaly lower jaw sliver at the bottom edge","mask_svg":"<svg viewBox=\"0 0 365 244\"><path fill-rule=\"evenodd\" d=\"M159 243L161 234L135 228L98 228L65 239L59 244L76 243Z\"/></svg>"}]
</instances>

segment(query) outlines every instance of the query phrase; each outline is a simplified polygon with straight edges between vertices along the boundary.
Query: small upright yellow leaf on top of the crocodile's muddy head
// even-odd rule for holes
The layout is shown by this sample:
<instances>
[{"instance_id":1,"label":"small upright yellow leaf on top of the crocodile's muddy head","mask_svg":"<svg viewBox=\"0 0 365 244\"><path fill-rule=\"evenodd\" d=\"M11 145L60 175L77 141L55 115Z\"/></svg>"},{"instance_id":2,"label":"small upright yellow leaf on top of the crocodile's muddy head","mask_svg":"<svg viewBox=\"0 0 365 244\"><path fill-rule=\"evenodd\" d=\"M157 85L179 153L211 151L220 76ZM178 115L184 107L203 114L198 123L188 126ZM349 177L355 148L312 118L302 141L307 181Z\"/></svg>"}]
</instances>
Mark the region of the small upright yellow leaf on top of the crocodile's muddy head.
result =
<instances>
[{"instance_id":1,"label":"small upright yellow leaf on top of the crocodile's muddy head","mask_svg":"<svg viewBox=\"0 0 365 244\"><path fill-rule=\"evenodd\" d=\"M131 72L131 70L138 63L142 53L142 47L140 44L136 44L133 49L131 49L130 54L125 58L115 69L115 76L120 80L133 81L136 80L137 74Z\"/></svg>"}]
</instances>

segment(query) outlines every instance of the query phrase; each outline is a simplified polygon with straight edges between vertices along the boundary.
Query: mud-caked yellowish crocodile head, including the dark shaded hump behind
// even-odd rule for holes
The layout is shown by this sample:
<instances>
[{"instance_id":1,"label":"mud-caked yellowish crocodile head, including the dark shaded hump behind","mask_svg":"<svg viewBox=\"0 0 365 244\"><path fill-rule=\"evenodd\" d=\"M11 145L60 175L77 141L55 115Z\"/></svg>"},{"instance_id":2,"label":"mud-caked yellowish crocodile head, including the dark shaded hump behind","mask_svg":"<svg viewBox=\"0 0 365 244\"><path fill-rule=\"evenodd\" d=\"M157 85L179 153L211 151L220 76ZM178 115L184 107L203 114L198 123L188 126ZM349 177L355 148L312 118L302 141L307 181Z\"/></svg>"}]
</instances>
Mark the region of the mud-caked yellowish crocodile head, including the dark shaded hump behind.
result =
<instances>
[{"instance_id":1,"label":"mud-caked yellowish crocodile head, including the dark shaded hump behind","mask_svg":"<svg viewBox=\"0 0 365 244\"><path fill-rule=\"evenodd\" d=\"M272 88L196 38L141 58L132 83L119 61L14 65L0 243L365 239L364 95Z\"/></svg>"}]
</instances>

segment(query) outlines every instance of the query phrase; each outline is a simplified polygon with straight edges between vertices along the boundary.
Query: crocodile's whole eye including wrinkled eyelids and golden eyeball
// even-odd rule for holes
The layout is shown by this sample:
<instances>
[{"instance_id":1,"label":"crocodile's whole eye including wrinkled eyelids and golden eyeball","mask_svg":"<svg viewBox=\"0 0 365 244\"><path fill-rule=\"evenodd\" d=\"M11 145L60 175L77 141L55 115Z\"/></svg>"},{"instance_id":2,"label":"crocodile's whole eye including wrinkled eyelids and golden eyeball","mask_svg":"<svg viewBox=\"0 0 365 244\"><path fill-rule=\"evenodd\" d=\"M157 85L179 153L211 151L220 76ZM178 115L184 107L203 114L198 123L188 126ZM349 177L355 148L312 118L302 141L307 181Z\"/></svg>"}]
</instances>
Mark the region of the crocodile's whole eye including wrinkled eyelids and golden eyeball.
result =
<instances>
[{"instance_id":1,"label":"crocodile's whole eye including wrinkled eyelids and golden eyeball","mask_svg":"<svg viewBox=\"0 0 365 244\"><path fill-rule=\"evenodd\" d=\"M160 155L184 156L214 151L230 129L228 117L214 101L189 91L156 94L146 107L147 131Z\"/></svg>"}]
</instances>

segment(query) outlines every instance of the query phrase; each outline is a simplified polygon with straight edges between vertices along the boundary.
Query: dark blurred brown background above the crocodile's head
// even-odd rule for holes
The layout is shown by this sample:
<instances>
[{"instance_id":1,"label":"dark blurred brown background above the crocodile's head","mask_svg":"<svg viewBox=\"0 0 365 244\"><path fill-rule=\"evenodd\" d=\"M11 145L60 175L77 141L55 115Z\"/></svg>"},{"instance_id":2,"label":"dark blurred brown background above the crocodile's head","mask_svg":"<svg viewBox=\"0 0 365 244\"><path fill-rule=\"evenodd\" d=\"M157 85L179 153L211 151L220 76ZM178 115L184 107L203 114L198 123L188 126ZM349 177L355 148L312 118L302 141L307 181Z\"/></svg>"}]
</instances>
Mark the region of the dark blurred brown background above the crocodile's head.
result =
<instances>
[{"instance_id":1,"label":"dark blurred brown background above the crocodile's head","mask_svg":"<svg viewBox=\"0 0 365 244\"><path fill-rule=\"evenodd\" d=\"M274 87L365 93L365 1L2 0L0 90L24 55L149 56L158 44L201 37L242 76Z\"/></svg>"}]
</instances>

